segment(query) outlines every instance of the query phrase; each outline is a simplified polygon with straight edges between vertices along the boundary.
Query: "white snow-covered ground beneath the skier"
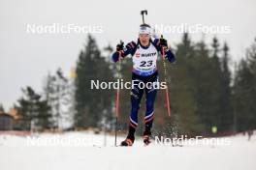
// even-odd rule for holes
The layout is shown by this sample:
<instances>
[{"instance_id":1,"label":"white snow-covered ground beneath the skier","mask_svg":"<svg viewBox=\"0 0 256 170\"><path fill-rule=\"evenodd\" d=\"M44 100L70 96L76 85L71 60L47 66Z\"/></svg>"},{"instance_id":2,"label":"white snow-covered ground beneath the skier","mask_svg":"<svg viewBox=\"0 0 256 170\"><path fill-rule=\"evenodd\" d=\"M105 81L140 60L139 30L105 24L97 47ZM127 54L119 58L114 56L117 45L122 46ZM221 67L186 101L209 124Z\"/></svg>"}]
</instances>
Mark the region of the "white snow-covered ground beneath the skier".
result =
<instances>
[{"instance_id":1,"label":"white snow-covered ground beneath the skier","mask_svg":"<svg viewBox=\"0 0 256 170\"><path fill-rule=\"evenodd\" d=\"M123 139L118 137L118 143ZM152 144L113 147L114 138L89 132L0 135L1 170L256 169L256 135L225 138L228 143Z\"/></svg>"}]
</instances>

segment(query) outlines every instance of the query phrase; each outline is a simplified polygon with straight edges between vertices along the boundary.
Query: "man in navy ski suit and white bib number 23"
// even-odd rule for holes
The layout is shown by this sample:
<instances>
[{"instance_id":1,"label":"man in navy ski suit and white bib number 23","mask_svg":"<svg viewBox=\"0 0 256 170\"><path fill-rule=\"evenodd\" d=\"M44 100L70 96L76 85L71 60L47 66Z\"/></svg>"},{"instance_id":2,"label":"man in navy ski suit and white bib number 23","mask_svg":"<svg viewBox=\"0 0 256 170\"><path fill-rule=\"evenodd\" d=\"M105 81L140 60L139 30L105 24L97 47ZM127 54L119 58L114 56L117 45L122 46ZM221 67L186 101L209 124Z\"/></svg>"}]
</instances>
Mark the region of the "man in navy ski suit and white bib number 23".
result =
<instances>
[{"instance_id":1,"label":"man in navy ski suit and white bib number 23","mask_svg":"<svg viewBox=\"0 0 256 170\"><path fill-rule=\"evenodd\" d=\"M127 55L132 55L133 71L132 80L143 83L158 82L158 71L156 60L158 53L165 53L165 58L169 62L176 61L176 57L171 49L168 48L167 41L163 38L152 39L152 29L147 24L142 24L139 31L139 39L137 42L129 42L125 48L123 42L116 45L116 51L112 54L112 61L118 62L119 59L125 58ZM141 99L145 93L146 111L144 115L144 145L150 143L151 128L154 120L154 101L156 98L157 88L144 87L140 88L135 84L131 90L131 113L128 135L121 146L132 146L135 140L135 131L138 126L138 111L140 109Z\"/></svg>"}]
</instances>

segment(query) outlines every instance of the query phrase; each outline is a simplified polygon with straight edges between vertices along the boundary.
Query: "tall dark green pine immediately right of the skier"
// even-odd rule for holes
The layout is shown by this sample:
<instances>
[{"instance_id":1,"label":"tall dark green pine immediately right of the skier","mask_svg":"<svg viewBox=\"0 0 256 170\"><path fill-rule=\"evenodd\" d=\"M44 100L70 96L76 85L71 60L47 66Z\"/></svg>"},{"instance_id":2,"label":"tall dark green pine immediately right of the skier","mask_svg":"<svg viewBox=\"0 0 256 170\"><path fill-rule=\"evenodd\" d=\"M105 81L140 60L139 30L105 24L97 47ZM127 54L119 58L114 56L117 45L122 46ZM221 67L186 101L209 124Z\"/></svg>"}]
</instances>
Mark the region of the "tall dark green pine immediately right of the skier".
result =
<instances>
[{"instance_id":1,"label":"tall dark green pine immediately right of the skier","mask_svg":"<svg viewBox=\"0 0 256 170\"><path fill-rule=\"evenodd\" d=\"M193 61L196 60L195 52L195 45L188 34L184 34L182 42L177 44L176 67L170 66L173 119L176 119L179 131L188 135L199 134L204 129L194 96L196 84L192 72L196 69L193 66Z\"/></svg>"}]
</instances>

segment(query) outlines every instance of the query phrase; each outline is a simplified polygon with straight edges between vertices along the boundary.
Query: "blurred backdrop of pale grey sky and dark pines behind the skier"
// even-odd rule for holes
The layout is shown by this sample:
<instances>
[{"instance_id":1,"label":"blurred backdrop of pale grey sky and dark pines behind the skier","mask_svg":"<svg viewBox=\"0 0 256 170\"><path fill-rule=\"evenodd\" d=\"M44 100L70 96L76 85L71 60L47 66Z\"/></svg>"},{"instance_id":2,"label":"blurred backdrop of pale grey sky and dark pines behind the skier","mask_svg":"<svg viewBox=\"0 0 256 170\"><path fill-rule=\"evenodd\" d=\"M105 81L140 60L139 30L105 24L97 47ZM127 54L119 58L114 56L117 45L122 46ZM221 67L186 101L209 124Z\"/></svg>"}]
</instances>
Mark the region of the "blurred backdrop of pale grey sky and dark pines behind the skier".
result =
<instances>
[{"instance_id":1,"label":"blurred backdrop of pale grey sky and dark pines behind the skier","mask_svg":"<svg viewBox=\"0 0 256 170\"><path fill-rule=\"evenodd\" d=\"M113 132L115 90L91 90L90 80L116 81L111 55L120 40L138 39L141 10L158 25L229 26L230 32L163 32L176 54L168 64L172 116L158 91L154 134L223 136L256 128L256 20L253 0L0 2L0 130ZM28 25L85 25L89 33L31 33ZM94 30L95 31L95 30ZM131 58L121 78L131 81ZM163 64L158 61L160 80ZM127 128L130 91L120 91ZM144 99L140 110L143 130ZM251 132L250 132L251 133Z\"/></svg>"}]
</instances>

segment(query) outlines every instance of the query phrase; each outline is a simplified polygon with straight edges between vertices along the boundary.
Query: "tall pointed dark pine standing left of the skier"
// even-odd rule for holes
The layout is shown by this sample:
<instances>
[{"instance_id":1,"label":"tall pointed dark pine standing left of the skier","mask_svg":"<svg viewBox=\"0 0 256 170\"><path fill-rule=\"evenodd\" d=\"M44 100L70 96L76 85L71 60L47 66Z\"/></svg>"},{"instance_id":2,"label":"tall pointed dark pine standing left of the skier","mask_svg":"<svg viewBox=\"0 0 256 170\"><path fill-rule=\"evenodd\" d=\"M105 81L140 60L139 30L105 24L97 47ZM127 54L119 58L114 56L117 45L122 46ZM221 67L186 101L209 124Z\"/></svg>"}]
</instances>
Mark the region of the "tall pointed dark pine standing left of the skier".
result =
<instances>
[{"instance_id":1,"label":"tall pointed dark pine standing left of the skier","mask_svg":"<svg viewBox=\"0 0 256 170\"><path fill-rule=\"evenodd\" d=\"M89 35L77 62L76 128L98 128L103 111L112 107L109 90L98 90L95 87L91 89L92 80L102 82L108 81L112 77L110 69L110 64L101 55L96 41Z\"/></svg>"}]
</instances>

